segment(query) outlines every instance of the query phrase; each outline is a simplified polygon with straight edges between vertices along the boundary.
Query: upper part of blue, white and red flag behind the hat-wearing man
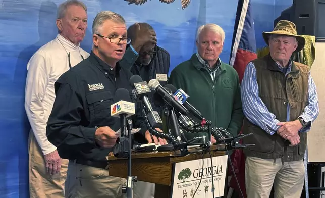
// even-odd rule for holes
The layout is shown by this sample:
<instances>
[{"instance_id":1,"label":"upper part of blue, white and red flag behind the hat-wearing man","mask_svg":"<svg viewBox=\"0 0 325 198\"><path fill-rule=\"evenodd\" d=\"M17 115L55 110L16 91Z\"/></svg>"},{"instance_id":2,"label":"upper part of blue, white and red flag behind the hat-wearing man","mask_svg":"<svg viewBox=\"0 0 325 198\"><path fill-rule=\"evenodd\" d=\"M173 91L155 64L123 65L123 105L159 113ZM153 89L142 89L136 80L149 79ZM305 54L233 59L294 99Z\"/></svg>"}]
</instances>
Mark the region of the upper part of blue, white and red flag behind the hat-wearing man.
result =
<instances>
[{"instance_id":1,"label":"upper part of blue, white and red flag behind the hat-wearing man","mask_svg":"<svg viewBox=\"0 0 325 198\"><path fill-rule=\"evenodd\" d=\"M257 58L254 20L250 0L238 0L230 65L236 69L240 82L246 65Z\"/></svg>"}]
</instances>

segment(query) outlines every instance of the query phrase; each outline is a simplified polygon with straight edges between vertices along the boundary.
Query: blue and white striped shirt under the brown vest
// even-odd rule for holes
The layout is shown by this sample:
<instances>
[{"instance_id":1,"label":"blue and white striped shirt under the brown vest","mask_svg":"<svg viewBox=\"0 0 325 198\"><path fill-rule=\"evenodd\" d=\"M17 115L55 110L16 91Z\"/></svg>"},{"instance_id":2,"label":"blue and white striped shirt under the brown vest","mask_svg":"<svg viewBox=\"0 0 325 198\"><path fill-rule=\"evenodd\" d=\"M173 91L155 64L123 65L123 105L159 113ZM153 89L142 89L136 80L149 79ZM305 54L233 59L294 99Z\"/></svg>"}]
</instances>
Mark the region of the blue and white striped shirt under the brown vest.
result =
<instances>
[{"instance_id":1,"label":"blue and white striped shirt under the brown vest","mask_svg":"<svg viewBox=\"0 0 325 198\"><path fill-rule=\"evenodd\" d=\"M291 64L288 68L280 67L280 70L287 76L291 71ZM269 112L261 98L258 96L258 84L256 80L256 68L252 62L248 63L245 69L245 74L241 83L241 97L243 103L243 112L246 118L253 124L259 126L264 131L273 135L278 131L280 122L276 116ZM289 104L287 105L287 121L289 121ZM308 78L308 104L305 107L301 117L305 122L310 123L300 132L308 132L313 122L319 114L318 97L316 86L312 77L309 74Z\"/></svg>"}]
</instances>

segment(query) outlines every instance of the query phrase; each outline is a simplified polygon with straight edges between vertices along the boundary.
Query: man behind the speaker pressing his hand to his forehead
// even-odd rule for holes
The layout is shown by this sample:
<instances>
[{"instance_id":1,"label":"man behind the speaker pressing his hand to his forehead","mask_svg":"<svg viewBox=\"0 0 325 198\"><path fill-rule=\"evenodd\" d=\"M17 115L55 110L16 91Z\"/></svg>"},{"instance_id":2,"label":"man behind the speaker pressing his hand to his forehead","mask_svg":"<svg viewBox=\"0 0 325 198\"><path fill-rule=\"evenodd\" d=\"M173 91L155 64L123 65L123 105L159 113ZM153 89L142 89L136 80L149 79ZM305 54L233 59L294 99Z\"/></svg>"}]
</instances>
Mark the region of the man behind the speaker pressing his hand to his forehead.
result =
<instances>
[{"instance_id":1,"label":"man behind the speaker pressing his hand to his forehead","mask_svg":"<svg viewBox=\"0 0 325 198\"><path fill-rule=\"evenodd\" d=\"M148 23L135 23L128 28L131 43L120 61L122 67L141 76L144 81L157 79L161 85L167 82L170 55L157 46L156 33Z\"/></svg>"}]
</instances>

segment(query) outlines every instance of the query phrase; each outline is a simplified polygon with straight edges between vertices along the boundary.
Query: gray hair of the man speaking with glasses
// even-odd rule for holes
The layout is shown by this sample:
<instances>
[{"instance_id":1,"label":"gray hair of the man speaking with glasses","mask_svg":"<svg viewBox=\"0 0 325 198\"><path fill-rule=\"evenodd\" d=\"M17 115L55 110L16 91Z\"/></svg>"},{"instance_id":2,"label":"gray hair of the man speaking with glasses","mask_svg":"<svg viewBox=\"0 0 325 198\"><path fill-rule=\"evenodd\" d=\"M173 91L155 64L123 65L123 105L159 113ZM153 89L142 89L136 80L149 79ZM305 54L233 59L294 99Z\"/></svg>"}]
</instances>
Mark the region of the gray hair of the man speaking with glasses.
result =
<instances>
[{"instance_id":1,"label":"gray hair of the man speaking with glasses","mask_svg":"<svg viewBox=\"0 0 325 198\"><path fill-rule=\"evenodd\" d=\"M92 34L99 34L99 30L101 29L102 24L107 20L122 24L126 23L124 18L115 12L101 11L96 15L94 22L92 23Z\"/></svg>"}]
</instances>

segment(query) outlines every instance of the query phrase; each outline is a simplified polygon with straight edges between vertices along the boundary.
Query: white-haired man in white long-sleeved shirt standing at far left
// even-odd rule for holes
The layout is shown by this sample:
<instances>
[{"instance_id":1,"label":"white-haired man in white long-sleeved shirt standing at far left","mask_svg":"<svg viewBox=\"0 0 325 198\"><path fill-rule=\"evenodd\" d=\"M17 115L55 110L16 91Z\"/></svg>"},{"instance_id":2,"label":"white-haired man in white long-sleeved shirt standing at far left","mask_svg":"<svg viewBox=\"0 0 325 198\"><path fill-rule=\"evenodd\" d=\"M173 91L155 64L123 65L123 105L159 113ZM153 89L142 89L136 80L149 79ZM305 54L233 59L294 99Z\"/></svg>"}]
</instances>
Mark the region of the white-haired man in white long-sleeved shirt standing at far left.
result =
<instances>
[{"instance_id":1,"label":"white-haired man in white long-sleeved shirt standing at far left","mask_svg":"<svg viewBox=\"0 0 325 198\"><path fill-rule=\"evenodd\" d=\"M46 122L55 101L54 83L89 54L80 48L87 28L87 7L68 0L58 8L57 37L43 45L29 60L25 110L31 125L29 134L30 197L65 197L68 160L46 137Z\"/></svg>"}]
</instances>

